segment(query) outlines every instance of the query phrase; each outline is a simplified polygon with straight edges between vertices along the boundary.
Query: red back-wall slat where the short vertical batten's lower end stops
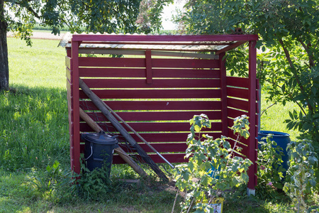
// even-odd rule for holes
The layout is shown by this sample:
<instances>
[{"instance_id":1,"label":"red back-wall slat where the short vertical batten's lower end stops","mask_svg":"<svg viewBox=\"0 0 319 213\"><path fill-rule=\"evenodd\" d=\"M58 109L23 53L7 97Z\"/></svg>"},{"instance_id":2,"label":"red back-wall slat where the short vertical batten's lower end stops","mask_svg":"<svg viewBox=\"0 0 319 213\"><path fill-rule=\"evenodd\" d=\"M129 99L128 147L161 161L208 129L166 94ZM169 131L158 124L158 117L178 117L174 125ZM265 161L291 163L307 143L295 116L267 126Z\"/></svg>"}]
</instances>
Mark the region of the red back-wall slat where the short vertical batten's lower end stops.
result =
<instances>
[{"instance_id":1,"label":"red back-wall slat where the short vertical batten's lower end stops","mask_svg":"<svg viewBox=\"0 0 319 213\"><path fill-rule=\"evenodd\" d=\"M84 79L90 88L216 88L220 87L218 79L153 79L151 84L146 80L128 79Z\"/></svg>"}]
</instances>

